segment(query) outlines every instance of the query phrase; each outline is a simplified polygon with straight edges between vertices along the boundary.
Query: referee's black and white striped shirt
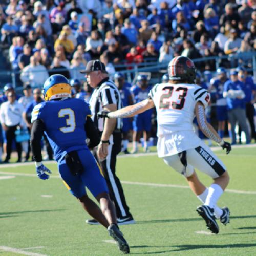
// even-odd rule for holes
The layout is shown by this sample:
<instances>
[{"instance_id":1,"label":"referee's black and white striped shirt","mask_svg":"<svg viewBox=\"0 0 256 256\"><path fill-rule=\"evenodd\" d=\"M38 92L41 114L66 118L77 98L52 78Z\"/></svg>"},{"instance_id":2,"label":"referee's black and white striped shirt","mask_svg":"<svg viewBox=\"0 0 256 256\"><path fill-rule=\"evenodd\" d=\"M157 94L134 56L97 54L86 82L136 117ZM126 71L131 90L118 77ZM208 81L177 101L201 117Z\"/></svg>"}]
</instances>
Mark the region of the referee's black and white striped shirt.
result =
<instances>
[{"instance_id":1,"label":"referee's black and white striped shirt","mask_svg":"<svg viewBox=\"0 0 256 256\"><path fill-rule=\"evenodd\" d=\"M103 79L94 89L90 99L90 108L92 112L92 120L100 132L103 131L104 119L97 118L97 113L103 110L105 105L116 104L117 110L122 108L122 100L118 88L109 77ZM122 119L117 118L115 130L122 128Z\"/></svg>"}]
</instances>

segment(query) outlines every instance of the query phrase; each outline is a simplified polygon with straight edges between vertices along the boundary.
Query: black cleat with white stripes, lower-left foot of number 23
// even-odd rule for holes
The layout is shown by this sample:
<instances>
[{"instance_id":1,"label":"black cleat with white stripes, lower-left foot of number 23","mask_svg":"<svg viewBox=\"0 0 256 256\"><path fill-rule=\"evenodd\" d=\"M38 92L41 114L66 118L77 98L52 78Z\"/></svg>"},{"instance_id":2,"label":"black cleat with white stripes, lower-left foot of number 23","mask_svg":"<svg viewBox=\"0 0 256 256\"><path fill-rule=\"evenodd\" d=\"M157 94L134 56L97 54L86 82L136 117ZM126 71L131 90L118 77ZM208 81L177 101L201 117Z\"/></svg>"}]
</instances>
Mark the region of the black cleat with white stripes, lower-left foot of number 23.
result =
<instances>
[{"instance_id":1,"label":"black cleat with white stripes, lower-left foot of number 23","mask_svg":"<svg viewBox=\"0 0 256 256\"><path fill-rule=\"evenodd\" d=\"M219 226L216 222L214 216L214 209L210 208L207 205L202 205L197 207L198 214L205 220L207 228L212 233L219 233Z\"/></svg>"}]
</instances>

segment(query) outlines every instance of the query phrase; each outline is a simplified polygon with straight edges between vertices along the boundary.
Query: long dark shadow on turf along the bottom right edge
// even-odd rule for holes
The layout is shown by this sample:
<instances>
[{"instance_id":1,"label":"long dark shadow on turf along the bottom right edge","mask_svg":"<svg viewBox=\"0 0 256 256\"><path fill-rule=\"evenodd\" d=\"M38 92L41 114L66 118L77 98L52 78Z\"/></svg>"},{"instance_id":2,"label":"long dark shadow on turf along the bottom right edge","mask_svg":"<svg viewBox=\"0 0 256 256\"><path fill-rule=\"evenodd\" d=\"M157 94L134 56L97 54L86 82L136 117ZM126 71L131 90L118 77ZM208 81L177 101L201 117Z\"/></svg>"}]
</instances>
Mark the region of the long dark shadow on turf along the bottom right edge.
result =
<instances>
[{"instance_id":1,"label":"long dark shadow on turf along the bottom right edge","mask_svg":"<svg viewBox=\"0 0 256 256\"><path fill-rule=\"evenodd\" d=\"M140 248L137 246L131 246L133 248ZM226 244L226 245L170 245L170 246L143 246L143 247L178 247L179 249L174 250L162 250L162 251L154 251L154 252L133 252L133 254L159 254L166 252L175 252L175 251L188 251L188 250L197 250L197 249L225 249L225 248L241 248L241 247L256 247L256 244Z\"/></svg>"}]
</instances>

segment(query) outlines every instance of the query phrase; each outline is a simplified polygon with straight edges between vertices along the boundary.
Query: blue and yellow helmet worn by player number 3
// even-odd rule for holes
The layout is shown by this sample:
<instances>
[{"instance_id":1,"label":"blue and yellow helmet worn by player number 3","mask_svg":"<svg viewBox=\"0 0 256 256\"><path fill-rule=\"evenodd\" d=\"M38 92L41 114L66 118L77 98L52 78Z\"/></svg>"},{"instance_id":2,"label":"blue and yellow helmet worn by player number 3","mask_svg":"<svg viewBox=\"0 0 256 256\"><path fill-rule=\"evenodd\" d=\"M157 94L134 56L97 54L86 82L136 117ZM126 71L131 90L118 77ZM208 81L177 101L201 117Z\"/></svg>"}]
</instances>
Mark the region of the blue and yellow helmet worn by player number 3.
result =
<instances>
[{"instance_id":1,"label":"blue and yellow helmet worn by player number 3","mask_svg":"<svg viewBox=\"0 0 256 256\"><path fill-rule=\"evenodd\" d=\"M46 101L71 98L69 80L63 75L52 75L44 83L43 94Z\"/></svg>"}]
</instances>

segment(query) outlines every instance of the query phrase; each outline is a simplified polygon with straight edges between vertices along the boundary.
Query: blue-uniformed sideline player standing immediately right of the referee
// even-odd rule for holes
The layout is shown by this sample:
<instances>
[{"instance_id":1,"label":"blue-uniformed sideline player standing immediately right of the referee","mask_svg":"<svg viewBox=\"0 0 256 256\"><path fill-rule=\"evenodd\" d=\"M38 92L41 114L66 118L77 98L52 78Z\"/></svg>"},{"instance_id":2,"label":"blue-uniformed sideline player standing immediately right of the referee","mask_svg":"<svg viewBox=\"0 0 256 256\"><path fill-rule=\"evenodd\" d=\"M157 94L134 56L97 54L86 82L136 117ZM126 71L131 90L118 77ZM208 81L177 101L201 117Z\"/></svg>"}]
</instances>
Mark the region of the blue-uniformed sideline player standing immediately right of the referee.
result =
<instances>
[{"instance_id":1,"label":"blue-uniformed sideline player standing immediately right of the referee","mask_svg":"<svg viewBox=\"0 0 256 256\"><path fill-rule=\"evenodd\" d=\"M129 106L133 104L133 97L131 94L131 91L129 88L125 87L125 80L124 80L124 75L120 72L116 73L114 75L114 81L115 84L120 92L121 99L122 99L122 105L124 106ZM124 118L123 120L123 127L122 127L122 152L125 154L129 154L130 152L128 151L128 133L130 130L133 130L133 119L132 118Z\"/></svg>"}]
</instances>

